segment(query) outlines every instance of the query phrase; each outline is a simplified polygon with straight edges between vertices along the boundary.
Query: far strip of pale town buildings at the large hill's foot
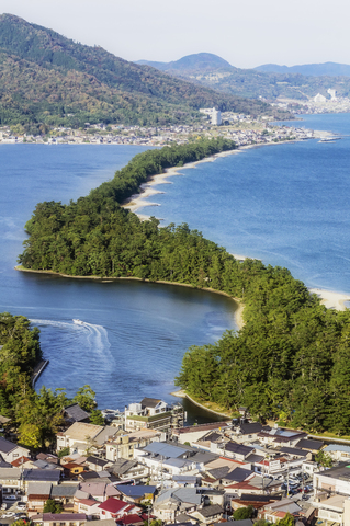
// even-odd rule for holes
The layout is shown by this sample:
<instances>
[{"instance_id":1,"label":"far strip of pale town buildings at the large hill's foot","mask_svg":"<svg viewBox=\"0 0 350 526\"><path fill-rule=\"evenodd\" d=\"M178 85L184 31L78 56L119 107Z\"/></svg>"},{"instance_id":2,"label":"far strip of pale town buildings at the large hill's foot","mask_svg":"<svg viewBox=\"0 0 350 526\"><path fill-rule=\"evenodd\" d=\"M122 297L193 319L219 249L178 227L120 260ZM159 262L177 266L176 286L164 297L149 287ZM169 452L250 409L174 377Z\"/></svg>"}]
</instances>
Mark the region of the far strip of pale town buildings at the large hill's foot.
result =
<instances>
[{"instance_id":1,"label":"far strip of pale town buildings at the large hill's foot","mask_svg":"<svg viewBox=\"0 0 350 526\"><path fill-rule=\"evenodd\" d=\"M224 137L232 139L237 146L267 145L284 140L303 140L317 137L311 129L297 126L276 126L270 124L271 117L256 117L232 112L221 113L215 108L203 108L203 124L173 126L125 126L91 125L71 129L57 127L46 135L31 136L21 127L0 128L0 144L46 144L46 145L139 145L166 146L183 145L199 137Z\"/></svg>"}]
</instances>

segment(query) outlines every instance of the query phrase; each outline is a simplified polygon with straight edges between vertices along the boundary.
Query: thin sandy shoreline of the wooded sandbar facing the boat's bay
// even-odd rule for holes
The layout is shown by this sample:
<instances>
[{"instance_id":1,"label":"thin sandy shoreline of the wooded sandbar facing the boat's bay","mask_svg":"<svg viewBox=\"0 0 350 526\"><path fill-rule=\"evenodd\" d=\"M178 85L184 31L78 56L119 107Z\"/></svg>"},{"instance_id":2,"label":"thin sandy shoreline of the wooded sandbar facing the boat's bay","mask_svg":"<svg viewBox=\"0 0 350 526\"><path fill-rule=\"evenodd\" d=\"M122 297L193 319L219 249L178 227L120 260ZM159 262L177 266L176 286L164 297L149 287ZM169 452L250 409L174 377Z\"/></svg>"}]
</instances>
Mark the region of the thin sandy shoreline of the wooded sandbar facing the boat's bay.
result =
<instances>
[{"instance_id":1,"label":"thin sandy shoreline of the wooded sandbar facing the boat's bay","mask_svg":"<svg viewBox=\"0 0 350 526\"><path fill-rule=\"evenodd\" d=\"M178 282L167 282L163 279L157 279L157 281L150 281L150 279L144 279L142 277L135 277L135 276L121 276L121 277L114 277L114 276L70 276L69 274L61 274L59 272L54 272L54 271L35 271L33 268L21 268L20 265L16 265L14 267L15 271L19 272L29 272L32 274L46 274L46 275L53 275L53 276L60 276L60 277L68 277L70 279L94 279L99 281L100 283L112 283L116 281L136 281L136 282L145 282L145 283L158 283L160 285L173 285L178 287L188 287L192 288L193 290L203 290L204 293L212 293L212 294L219 294L221 296L226 296L226 298L232 299L236 304L236 310L234 312L234 319L235 323L237 325L237 330L240 331L242 329L245 322L242 318L242 312L245 310L245 304L239 299L235 298L234 296L230 296L228 293L225 293L224 290L215 290L215 288L197 288L193 287L193 285L189 283L178 283Z\"/></svg>"}]
</instances>

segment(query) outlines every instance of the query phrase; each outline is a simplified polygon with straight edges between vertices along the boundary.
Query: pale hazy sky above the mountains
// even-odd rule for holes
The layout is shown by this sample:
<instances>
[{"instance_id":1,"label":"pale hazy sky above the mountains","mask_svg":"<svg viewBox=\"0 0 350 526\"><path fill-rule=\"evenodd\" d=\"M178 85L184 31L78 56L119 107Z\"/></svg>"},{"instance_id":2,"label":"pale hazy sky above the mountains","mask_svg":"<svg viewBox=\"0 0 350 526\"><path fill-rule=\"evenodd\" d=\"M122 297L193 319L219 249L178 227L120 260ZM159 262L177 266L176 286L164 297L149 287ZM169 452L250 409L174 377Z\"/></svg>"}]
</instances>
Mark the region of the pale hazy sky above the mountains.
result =
<instances>
[{"instance_id":1,"label":"pale hazy sky above the mountains","mask_svg":"<svg viewBox=\"0 0 350 526\"><path fill-rule=\"evenodd\" d=\"M207 52L240 68L350 64L346 0L0 0L0 12L126 60Z\"/></svg>"}]
</instances>

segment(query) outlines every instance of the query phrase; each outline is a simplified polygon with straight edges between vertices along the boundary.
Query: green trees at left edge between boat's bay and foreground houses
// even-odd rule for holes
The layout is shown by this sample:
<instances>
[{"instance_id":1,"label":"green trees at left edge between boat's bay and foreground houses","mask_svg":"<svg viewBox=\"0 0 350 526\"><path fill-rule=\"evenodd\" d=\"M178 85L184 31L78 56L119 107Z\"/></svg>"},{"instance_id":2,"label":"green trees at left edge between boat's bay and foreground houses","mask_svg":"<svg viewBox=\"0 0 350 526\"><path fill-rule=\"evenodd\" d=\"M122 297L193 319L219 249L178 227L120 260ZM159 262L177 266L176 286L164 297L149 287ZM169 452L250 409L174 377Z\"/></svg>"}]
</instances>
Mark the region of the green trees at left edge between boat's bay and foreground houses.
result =
<instances>
[{"instance_id":1,"label":"green trees at left edge between boat's bay and foreground houses","mask_svg":"<svg viewBox=\"0 0 350 526\"><path fill-rule=\"evenodd\" d=\"M33 369L41 358L38 329L31 329L30 320L23 316L0 313L0 414L10 418L19 443L31 449L55 443L63 424L63 409L70 403L64 389L33 389ZM89 386L83 386L72 401L94 413L93 423L101 423L94 395Z\"/></svg>"}]
</instances>

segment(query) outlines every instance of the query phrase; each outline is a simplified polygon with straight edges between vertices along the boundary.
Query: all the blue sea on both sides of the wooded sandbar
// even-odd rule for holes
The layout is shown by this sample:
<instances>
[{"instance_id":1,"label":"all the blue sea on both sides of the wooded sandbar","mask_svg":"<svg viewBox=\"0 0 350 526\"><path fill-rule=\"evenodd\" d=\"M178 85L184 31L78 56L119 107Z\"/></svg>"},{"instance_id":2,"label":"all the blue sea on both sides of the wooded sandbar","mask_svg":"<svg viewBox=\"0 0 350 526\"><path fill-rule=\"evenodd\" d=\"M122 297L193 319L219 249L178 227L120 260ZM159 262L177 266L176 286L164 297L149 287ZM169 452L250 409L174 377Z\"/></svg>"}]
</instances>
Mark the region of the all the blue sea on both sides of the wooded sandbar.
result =
<instances>
[{"instance_id":1,"label":"all the blue sea on both sides of the wooded sandbar","mask_svg":"<svg viewBox=\"0 0 350 526\"><path fill-rule=\"evenodd\" d=\"M302 118L284 124L340 139L245 149L181 169L138 211L161 225L187 222L232 253L290 268L309 287L350 293L350 114ZM122 410L144 397L176 401L174 377L188 348L237 330L237 306L224 296L14 270L38 202L87 195L145 149L0 145L0 311L26 316L41 330L49 365L37 389L64 387L74 396L90 385L101 409ZM210 420L191 404L187 410L190 423Z\"/></svg>"}]
</instances>

